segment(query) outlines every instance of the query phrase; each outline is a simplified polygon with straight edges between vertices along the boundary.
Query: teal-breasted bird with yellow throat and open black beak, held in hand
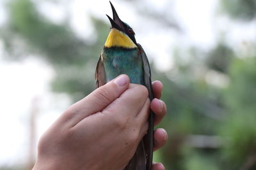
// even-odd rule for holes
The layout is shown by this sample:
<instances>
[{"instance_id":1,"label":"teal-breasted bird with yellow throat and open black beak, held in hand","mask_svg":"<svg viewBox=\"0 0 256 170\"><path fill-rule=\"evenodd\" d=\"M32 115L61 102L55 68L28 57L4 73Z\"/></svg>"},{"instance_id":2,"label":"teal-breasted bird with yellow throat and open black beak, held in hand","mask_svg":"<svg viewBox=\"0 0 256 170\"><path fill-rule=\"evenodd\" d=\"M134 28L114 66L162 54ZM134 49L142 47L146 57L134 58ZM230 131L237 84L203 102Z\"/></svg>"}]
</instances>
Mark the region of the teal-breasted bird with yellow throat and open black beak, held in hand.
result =
<instances>
[{"instance_id":1,"label":"teal-breasted bird with yellow throat and open black beak, held in hand","mask_svg":"<svg viewBox=\"0 0 256 170\"><path fill-rule=\"evenodd\" d=\"M136 42L133 29L123 22L109 1L113 19L108 17L111 29L100 53L95 71L96 88L108 83L120 74L127 74L131 83L144 85L150 101L154 98L151 71L147 55ZM143 137L134 156L124 170L151 170L153 157L154 112L148 116L148 131Z\"/></svg>"}]
</instances>

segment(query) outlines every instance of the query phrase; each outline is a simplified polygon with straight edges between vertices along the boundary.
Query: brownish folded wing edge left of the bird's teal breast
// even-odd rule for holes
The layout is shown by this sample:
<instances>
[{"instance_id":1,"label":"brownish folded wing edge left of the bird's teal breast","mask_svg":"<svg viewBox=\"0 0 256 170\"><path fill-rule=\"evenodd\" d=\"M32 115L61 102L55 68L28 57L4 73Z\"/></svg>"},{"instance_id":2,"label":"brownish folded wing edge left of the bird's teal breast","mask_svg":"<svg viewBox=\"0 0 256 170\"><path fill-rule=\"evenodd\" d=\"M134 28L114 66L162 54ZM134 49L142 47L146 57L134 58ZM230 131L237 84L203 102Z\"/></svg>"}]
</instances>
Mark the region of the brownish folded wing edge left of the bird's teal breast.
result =
<instances>
[{"instance_id":1,"label":"brownish folded wing edge left of the bird's teal breast","mask_svg":"<svg viewBox=\"0 0 256 170\"><path fill-rule=\"evenodd\" d=\"M102 63L102 55L97 63L96 71L95 71L95 79L96 79L96 88L106 84L106 76L105 76L105 69Z\"/></svg>"}]
</instances>

